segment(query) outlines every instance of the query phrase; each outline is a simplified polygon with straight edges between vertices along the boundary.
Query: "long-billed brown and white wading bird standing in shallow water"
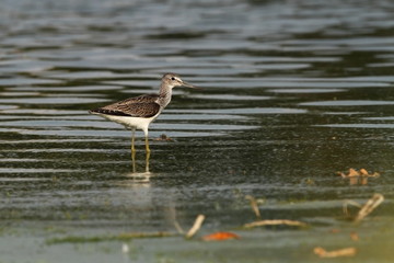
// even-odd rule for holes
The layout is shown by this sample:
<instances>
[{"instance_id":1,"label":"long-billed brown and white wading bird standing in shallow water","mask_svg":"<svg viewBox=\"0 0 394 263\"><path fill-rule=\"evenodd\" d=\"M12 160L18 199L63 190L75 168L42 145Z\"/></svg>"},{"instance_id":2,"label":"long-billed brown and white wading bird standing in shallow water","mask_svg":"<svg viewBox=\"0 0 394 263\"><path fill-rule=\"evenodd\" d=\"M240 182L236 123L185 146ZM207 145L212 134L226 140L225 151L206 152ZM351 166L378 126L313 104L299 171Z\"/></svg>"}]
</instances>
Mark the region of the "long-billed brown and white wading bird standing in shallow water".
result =
<instances>
[{"instance_id":1,"label":"long-billed brown and white wading bird standing in shallow water","mask_svg":"<svg viewBox=\"0 0 394 263\"><path fill-rule=\"evenodd\" d=\"M199 89L183 81L177 73L164 73L161 79L160 90L157 94L143 94L129 98L113 104L89 111L106 119L124 125L131 129L131 153L136 152L135 133L142 129L144 133L146 151L150 153L148 128L149 125L170 104L172 90L175 87Z\"/></svg>"}]
</instances>

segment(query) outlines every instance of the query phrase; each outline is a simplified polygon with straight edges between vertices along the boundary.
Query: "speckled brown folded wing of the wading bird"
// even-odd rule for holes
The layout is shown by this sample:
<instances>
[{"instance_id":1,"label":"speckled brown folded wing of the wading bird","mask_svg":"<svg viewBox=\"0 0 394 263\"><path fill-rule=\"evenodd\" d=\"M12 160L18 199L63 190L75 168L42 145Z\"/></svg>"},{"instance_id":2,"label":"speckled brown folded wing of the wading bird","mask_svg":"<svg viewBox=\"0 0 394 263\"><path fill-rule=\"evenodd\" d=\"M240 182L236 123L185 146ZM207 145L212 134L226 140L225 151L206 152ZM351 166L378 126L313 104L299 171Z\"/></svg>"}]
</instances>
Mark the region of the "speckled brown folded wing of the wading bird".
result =
<instances>
[{"instance_id":1,"label":"speckled brown folded wing of the wading bird","mask_svg":"<svg viewBox=\"0 0 394 263\"><path fill-rule=\"evenodd\" d=\"M158 98L159 95L157 94L140 95L99 107L91 112L115 116L148 118L157 115L160 111L160 105L155 102Z\"/></svg>"}]
</instances>

